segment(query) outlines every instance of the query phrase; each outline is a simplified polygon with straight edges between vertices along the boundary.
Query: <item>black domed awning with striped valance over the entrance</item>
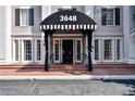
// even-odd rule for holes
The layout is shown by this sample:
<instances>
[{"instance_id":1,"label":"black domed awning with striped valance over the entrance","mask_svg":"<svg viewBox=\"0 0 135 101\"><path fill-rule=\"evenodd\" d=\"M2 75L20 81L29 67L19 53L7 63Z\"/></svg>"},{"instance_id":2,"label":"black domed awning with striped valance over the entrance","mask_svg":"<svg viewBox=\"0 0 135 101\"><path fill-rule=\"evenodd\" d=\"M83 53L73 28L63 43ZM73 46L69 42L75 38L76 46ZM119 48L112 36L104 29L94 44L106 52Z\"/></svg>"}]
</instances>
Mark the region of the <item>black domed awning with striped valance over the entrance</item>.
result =
<instances>
[{"instance_id":1,"label":"black domed awning with striped valance over the entrance","mask_svg":"<svg viewBox=\"0 0 135 101\"><path fill-rule=\"evenodd\" d=\"M61 10L40 23L40 30L48 29L96 29L97 24L86 14L76 10Z\"/></svg>"}]
</instances>

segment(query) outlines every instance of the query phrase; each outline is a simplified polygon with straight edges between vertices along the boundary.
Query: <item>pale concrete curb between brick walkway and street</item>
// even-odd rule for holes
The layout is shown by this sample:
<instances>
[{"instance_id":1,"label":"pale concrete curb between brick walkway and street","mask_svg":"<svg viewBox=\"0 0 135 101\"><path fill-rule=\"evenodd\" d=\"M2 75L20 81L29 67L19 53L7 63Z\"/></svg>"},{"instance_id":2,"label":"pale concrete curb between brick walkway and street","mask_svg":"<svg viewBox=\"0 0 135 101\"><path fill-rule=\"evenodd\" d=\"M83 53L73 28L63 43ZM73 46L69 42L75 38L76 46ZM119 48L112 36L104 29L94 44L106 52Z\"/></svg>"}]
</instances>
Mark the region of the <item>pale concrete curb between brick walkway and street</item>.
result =
<instances>
[{"instance_id":1,"label":"pale concrete curb between brick walkway and street","mask_svg":"<svg viewBox=\"0 0 135 101\"><path fill-rule=\"evenodd\" d=\"M0 80L44 80L44 79L135 79L135 75L88 75L88 76L0 76Z\"/></svg>"}]
</instances>

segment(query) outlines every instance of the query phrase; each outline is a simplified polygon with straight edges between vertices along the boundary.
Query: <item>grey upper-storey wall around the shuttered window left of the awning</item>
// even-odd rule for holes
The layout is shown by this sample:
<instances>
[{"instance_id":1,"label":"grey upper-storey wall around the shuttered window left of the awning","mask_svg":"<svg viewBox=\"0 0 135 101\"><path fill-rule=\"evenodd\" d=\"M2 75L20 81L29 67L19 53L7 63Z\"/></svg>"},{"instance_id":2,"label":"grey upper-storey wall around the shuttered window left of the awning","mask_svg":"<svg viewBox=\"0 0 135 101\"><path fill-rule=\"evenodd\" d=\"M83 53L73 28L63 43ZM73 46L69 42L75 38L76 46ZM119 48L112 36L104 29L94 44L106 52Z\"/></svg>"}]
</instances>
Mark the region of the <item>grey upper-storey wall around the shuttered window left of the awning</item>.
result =
<instances>
[{"instance_id":1,"label":"grey upper-storey wall around the shuttered window left of the awning","mask_svg":"<svg viewBox=\"0 0 135 101\"><path fill-rule=\"evenodd\" d=\"M34 26L15 26L15 9L21 9L26 7L12 7L12 34L13 35L32 35L32 34L40 34L39 24L41 22L41 7L40 5L32 5L29 8L34 9Z\"/></svg>"}]
</instances>

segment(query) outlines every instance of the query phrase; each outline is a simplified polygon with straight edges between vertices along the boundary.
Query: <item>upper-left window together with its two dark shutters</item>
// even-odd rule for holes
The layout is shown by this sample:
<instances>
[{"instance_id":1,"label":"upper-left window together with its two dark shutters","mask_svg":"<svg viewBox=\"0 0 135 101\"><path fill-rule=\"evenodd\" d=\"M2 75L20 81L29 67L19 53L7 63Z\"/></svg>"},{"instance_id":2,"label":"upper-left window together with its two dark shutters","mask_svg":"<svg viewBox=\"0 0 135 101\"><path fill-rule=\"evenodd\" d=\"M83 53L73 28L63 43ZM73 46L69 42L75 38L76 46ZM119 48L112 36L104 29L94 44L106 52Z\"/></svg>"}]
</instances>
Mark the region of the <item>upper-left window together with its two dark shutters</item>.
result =
<instances>
[{"instance_id":1,"label":"upper-left window together with its two dark shutters","mask_svg":"<svg viewBox=\"0 0 135 101\"><path fill-rule=\"evenodd\" d=\"M34 9L15 9L15 26L33 26Z\"/></svg>"}]
</instances>

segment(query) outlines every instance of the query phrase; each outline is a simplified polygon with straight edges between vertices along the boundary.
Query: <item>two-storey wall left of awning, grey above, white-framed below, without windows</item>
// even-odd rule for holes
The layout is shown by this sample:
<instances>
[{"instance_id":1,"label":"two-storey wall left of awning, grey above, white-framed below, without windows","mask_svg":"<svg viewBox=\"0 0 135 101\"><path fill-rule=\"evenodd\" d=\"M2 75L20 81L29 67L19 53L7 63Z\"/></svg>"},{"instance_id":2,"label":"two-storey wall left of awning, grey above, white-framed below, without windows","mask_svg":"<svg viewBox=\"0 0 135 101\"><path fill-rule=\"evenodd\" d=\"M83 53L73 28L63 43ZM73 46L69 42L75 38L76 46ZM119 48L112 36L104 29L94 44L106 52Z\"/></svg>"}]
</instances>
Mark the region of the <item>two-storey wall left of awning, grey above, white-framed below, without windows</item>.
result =
<instances>
[{"instance_id":1,"label":"two-storey wall left of awning, grey above, white-framed below, without windows","mask_svg":"<svg viewBox=\"0 0 135 101\"><path fill-rule=\"evenodd\" d=\"M15 9L32 8L34 9L34 26L15 26ZM38 62L36 60L36 40L41 40L41 31L39 30L39 24L41 22L41 7L32 5L32 7L12 7L12 60L13 62ZM15 61L15 46L14 40L19 40L19 61ZM24 61L24 40L32 41L32 61ZM41 40L41 46L44 46L44 40ZM42 51L41 51L42 52Z\"/></svg>"}]
</instances>

